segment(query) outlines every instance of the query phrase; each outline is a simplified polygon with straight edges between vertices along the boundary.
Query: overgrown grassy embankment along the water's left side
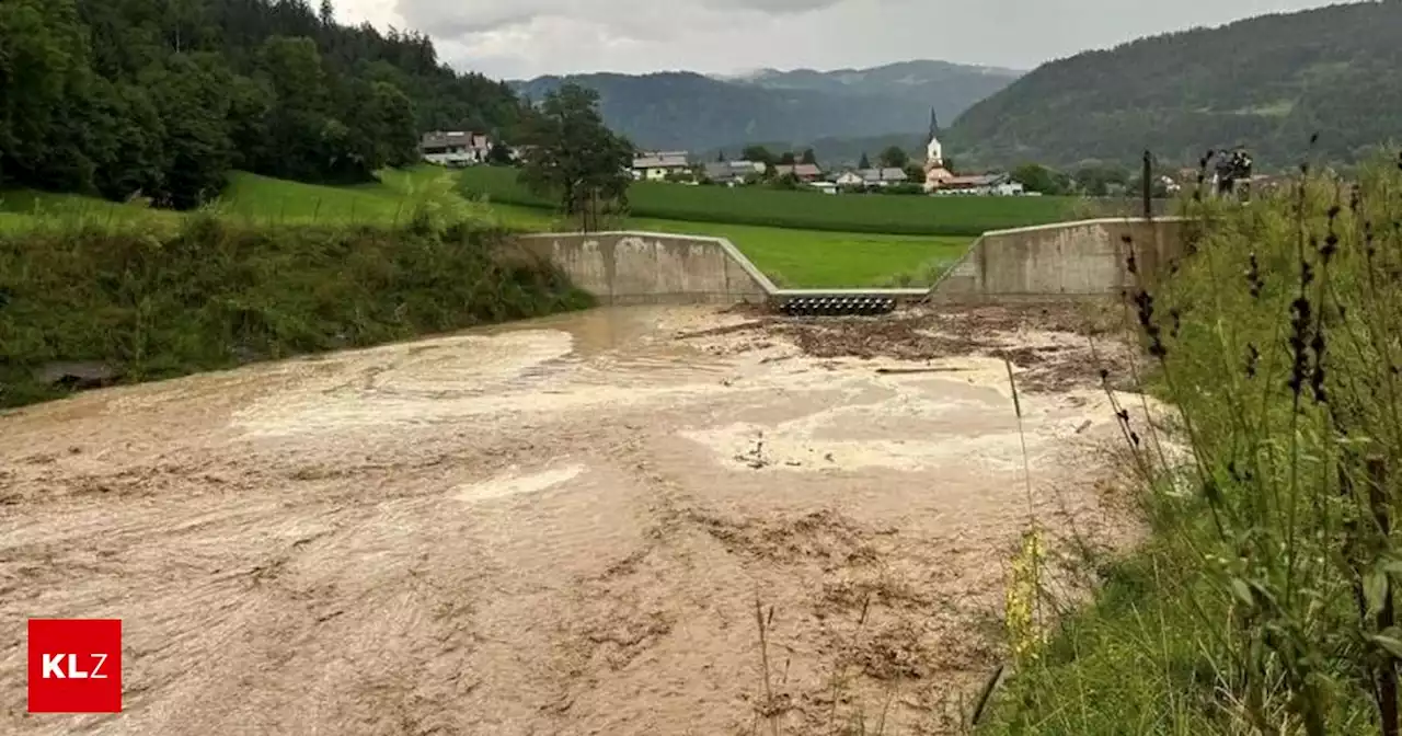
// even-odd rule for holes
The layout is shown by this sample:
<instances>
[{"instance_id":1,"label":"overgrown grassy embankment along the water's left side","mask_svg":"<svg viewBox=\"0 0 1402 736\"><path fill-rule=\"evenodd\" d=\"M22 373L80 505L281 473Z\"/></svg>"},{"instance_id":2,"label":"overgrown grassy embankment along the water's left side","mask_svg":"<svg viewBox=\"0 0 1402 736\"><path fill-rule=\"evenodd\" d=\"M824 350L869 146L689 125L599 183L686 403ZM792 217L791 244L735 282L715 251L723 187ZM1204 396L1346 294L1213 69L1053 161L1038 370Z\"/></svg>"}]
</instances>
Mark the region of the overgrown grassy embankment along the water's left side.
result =
<instances>
[{"instance_id":1,"label":"overgrown grassy embankment along the water's left side","mask_svg":"<svg viewBox=\"0 0 1402 736\"><path fill-rule=\"evenodd\" d=\"M471 226L0 233L0 407L67 393L35 373L94 362L167 379L583 308L554 266Z\"/></svg>"}]
</instances>

